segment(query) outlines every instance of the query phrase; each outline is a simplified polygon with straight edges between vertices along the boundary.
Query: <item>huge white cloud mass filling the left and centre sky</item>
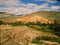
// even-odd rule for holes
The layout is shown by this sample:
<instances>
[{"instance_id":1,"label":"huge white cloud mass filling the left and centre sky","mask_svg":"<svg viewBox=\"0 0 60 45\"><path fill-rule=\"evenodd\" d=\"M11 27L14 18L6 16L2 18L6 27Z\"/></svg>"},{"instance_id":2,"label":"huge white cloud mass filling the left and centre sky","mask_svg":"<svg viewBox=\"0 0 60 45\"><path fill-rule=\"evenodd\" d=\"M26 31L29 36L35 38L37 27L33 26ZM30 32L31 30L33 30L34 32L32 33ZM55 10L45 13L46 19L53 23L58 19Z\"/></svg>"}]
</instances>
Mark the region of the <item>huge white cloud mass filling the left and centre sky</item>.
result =
<instances>
[{"instance_id":1,"label":"huge white cloud mass filling the left and centre sky","mask_svg":"<svg viewBox=\"0 0 60 45\"><path fill-rule=\"evenodd\" d=\"M19 2L18 0L0 0L0 4L5 4L5 8L0 8L0 11L6 11L13 14L26 14L26 13L32 13L35 11L38 11L40 8L46 8L47 4L37 5L37 4L24 4L22 2ZM20 6L20 7L14 7L14 6Z\"/></svg>"}]
</instances>

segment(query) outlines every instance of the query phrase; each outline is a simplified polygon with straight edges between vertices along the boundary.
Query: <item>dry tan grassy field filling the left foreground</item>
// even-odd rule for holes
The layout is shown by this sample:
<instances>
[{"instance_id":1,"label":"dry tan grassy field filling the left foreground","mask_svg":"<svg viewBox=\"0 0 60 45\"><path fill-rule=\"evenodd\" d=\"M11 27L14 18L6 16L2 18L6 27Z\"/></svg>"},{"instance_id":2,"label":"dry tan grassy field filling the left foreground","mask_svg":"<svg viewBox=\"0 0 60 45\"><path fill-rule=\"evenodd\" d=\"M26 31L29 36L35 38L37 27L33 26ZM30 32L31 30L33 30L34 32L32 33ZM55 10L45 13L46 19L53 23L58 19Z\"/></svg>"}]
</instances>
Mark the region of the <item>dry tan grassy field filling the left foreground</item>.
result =
<instances>
[{"instance_id":1,"label":"dry tan grassy field filling the left foreground","mask_svg":"<svg viewBox=\"0 0 60 45\"><path fill-rule=\"evenodd\" d=\"M31 44L31 40L36 36L52 36L53 34L36 31L27 26L12 27L9 25L0 26L0 44L1 45L24 45L25 43ZM53 42L52 42L53 43Z\"/></svg>"}]
</instances>

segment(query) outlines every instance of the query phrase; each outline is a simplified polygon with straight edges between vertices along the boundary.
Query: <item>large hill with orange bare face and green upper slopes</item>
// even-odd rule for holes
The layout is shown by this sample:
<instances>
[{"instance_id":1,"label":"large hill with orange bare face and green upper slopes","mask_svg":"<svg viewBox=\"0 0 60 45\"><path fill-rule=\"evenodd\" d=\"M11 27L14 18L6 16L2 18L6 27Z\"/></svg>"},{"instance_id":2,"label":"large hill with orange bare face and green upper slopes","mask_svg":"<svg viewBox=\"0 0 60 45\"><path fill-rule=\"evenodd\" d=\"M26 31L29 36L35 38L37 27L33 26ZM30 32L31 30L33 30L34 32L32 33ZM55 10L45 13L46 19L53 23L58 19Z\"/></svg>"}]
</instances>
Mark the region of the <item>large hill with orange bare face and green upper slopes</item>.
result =
<instances>
[{"instance_id":1,"label":"large hill with orange bare face and green upper slopes","mask_svg":"<svg viewBox=\"0 0 60 45\"><path fill-rule=\"evenodd\" d=\"M56 11L38 11L29 15L25 15L16 19L15 21L22 22L41 22L41 23L54 23L54 20L60 19L60 12ZM60 21L60 20L59 20Z\"/></svg>"}]
</instances>

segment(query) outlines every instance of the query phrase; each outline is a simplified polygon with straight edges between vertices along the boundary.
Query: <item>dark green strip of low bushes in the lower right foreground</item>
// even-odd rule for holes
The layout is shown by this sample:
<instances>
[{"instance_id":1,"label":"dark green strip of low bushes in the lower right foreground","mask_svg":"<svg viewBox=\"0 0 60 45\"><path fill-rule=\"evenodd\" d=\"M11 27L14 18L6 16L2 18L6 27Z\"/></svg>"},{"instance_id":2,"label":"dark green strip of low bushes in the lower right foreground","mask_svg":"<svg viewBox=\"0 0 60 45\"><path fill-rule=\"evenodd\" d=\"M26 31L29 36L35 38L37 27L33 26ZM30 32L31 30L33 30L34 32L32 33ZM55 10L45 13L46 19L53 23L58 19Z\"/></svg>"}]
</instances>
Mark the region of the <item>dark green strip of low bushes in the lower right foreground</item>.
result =
<instances>
[{"instance_id":1,"label":"dark green strip of low bushes in the lower right foreground","mask_svg":"<svg viewBox=\"0 0 60 45\"><path fill-rule=\"evenodd\" d=\"M32 40L32 43L36 43L36 44L40 43L40 40L46 40L46 41L52 41L52 42L60 43L60 38L49 37L49 36L42 36L42 37L38 36Z\"/></svg>"}]
</instances>

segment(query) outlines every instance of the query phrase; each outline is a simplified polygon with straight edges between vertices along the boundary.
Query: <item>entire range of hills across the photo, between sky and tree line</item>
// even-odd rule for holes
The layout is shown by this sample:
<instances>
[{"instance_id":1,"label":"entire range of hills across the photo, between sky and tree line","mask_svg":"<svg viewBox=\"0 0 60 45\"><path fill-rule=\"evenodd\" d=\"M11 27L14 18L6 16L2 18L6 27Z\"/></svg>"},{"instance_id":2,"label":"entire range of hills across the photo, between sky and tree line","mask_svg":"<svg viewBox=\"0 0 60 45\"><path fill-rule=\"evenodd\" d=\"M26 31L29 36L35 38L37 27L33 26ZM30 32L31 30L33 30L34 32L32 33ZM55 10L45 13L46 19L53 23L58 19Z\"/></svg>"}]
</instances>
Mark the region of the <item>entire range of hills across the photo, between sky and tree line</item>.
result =
<instances>
[{"instance_id":1,"label":"entire range of hills across the photo, between sky and tree line","mask_svg":"<svg viewBox=\"0 0 60 45\"><path fill-rule=\"evenodd\" d=\"M9 16L8 16L9 15ZM6 19L5 19L6 18ZM36 22L39 21L41 23L53 23L53 20L60 21L60 12L56 11L38 11L32 14L26 14L24 16L17 16L14 14L0 12L0 20L8 20L9 21L23 21L23 22Z\"/></svg>"}]
</instances>

